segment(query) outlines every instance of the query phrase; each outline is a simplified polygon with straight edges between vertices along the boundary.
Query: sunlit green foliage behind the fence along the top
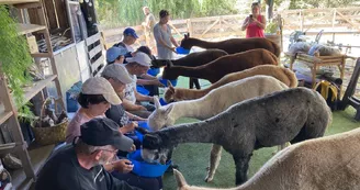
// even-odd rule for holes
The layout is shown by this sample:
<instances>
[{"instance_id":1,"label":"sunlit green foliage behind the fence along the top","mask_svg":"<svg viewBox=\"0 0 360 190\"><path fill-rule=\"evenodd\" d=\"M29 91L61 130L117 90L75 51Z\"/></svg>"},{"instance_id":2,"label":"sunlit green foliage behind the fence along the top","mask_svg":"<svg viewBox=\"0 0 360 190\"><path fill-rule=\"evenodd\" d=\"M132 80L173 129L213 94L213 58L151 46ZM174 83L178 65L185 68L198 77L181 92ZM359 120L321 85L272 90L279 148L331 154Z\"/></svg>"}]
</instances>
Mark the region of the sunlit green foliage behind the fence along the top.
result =
<instances>
[{"instance_id":1,"label":"sunlit green foliage behind the fence along the top","mask_svg":"<svg viewBox=\"0 0 360 190\"><path fill-rule=\"evenodd\" d=\"M161 9L170 11L172 19L189 19L236 14L248 10L252 1L256 0L95 0L95 8L102 27L116 27L140 24L144 5L150 8L156 19ZM284 1L274 0L274 7ZM357 1L360 0L290 0L289 9L347 7Z\"/></svg>"}]
</instances>

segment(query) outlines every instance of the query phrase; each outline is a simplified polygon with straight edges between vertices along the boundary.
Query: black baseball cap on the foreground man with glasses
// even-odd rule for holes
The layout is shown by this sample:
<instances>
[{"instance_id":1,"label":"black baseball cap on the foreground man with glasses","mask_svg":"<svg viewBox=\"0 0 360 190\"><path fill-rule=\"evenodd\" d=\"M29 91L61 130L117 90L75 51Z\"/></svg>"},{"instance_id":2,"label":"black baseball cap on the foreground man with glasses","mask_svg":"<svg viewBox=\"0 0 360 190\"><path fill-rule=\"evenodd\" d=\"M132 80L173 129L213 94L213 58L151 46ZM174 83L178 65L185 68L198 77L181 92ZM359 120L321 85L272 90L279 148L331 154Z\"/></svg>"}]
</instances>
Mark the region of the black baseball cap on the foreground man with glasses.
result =
<instances>
[{"instance_id":1,"label":"black baseball cap on the foreground man with glasses","mask_svg":"<svg viewBox=\"0 0 360 190\"><path fill-rule=\"evenodd\" d=\"M130 152L133 139L119 132L116 122L106 119L92 119L81 125L81 141L91 146L113 145L116 149Z\"/></svg>"}]
</instances>

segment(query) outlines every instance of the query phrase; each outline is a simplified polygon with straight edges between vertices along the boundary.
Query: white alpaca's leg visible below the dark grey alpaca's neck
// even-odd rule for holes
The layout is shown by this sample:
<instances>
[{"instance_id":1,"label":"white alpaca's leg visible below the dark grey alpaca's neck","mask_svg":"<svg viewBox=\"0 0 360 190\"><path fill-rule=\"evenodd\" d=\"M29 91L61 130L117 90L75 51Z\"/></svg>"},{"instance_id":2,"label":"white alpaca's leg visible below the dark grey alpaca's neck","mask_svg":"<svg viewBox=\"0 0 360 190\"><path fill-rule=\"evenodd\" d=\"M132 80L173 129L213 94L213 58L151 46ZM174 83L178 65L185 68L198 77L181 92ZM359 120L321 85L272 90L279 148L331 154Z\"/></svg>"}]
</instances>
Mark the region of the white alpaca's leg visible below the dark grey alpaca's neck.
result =
<instances>
[{"instance_id":1,"label":"white alpaca's leg visible below the dark grey alpaca's neck","mask_svg":"<svg viewBox=\"0 0 360 190\"><path fill-rule=\"evenodd\" d=\"M218 167L220 160L222 158L222 146L213 145L211 153L210 153L210 166L207 170L207 176L205 177L205 181L210 182L213 180L215 171Z\"/></svg>"}]
</instances>

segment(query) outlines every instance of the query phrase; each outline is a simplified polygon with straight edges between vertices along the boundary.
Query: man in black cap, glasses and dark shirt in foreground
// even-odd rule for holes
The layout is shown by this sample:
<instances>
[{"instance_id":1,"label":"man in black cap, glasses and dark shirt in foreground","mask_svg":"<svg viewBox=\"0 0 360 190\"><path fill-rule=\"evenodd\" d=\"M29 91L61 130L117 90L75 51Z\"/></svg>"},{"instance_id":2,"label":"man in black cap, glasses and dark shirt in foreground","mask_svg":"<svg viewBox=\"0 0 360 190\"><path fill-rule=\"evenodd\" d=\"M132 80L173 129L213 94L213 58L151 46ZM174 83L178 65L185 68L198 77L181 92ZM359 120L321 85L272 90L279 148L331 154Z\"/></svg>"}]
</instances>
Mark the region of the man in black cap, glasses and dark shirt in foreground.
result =
<instances>
[{"instance_id":1,"label":"man in black cap, glasses and dark shirt in foreground","mask_svg":"<svg viewBox=\"0 0 360 190\"><path fill-rule=\"evenodd\" d=\"M130 152L133 141L119 132L110 119L92 119L81 125L77 144L58 149L40 172L36 190L139 190L113 178L104 164L119 149Z\"/></svg>"}]
</instances>

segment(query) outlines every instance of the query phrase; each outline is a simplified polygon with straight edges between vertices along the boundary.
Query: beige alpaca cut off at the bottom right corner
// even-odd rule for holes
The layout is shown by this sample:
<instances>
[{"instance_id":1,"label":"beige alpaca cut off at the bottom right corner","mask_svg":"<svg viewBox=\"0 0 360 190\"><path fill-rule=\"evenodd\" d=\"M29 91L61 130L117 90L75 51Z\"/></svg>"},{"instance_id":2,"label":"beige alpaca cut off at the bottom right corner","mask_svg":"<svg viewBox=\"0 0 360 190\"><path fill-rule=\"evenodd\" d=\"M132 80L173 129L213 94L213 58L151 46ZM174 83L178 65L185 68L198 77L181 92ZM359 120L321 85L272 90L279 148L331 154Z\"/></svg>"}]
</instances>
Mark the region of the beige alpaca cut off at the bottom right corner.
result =
<instances>
[{"instance_id":1,"label":"beige alpaca cut off at the bottom right corner","mask_svg":"<svg viewBox=\"0 0 360 190\"><path fill-rule=\"evenodd\" d=\"M230 189L192 187L175 171L178 190L358 190L360 128L310 139L278 153L246 183Z\"/></svg>"}]
</instances>

